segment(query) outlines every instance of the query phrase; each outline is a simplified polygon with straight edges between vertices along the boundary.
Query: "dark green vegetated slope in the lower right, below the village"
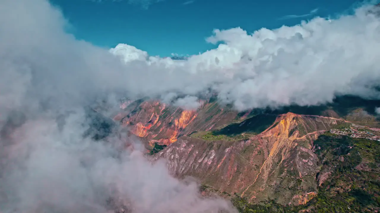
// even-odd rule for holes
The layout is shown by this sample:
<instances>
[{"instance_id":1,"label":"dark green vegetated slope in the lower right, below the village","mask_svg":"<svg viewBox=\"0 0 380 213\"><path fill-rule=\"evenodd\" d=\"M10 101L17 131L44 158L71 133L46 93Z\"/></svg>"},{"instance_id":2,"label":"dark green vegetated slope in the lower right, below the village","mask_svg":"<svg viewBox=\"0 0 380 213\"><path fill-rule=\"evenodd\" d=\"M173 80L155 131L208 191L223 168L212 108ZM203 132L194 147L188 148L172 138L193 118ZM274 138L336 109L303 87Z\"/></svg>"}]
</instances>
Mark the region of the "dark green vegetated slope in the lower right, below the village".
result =
<instances>
[{"instance_id":1,"label":"dark green vegetated slope in the lower right, below the village","mask_svg":"<svg viewBox=\"0 0 380 213\"><path fill-rule=\"evenodd\" d=\"M321 172L331 171L330 177L319 187L316 197L306 204L296 206L280 205L269 198L257 204L249 204L235 194L231 200L239 212L379 211L380 145L378 141L326 133L321 135L314 144L317 147L315 153L322 162Z\"/></svg>"}]
</instances>

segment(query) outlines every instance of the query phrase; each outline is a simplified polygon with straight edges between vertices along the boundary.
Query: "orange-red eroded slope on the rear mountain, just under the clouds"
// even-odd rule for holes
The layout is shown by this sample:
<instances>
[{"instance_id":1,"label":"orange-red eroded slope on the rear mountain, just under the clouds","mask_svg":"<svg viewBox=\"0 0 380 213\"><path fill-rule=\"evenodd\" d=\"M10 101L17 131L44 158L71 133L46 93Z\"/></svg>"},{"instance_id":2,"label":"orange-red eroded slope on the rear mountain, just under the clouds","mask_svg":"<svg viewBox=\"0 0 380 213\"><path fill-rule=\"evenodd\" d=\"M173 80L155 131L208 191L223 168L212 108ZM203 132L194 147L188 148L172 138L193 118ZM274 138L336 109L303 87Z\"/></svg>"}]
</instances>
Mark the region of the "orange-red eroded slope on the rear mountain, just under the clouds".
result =
<instances>
[{"instance_id":1,"label":"orange-red eroded slope on the rear mountain, just under the clouds","mask_svg":"<svg viewBox=\"0 0 380 213\"><path fill-rule=\"evenodd\" d=\"M183 110L156 101L124 102L123 111L113 117L124 127L152 143L171 144L182 135L208 131L233 121L236 111L221 108L217 102L204 102L197 111Z\"/></svg>"}]
</instances>

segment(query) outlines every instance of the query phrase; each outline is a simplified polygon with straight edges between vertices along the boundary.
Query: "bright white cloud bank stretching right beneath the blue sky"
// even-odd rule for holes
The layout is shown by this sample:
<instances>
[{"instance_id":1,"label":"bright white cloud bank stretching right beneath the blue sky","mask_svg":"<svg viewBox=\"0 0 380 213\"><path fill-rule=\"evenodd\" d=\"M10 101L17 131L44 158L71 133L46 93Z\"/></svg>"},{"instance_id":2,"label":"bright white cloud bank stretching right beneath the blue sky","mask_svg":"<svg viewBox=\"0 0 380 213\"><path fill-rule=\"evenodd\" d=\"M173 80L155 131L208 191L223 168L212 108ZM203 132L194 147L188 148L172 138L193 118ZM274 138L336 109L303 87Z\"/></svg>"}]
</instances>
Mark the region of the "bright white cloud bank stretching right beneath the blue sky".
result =
<instances>
[{"instance_id":1,"label":"bright white cloud bank stretching right beneath the blue sky","mask_svg":"<svg viewBox=\"0 0 380 213\"><path fill-rule=\"evenodd\" d=\"M214 91L239 110L318 105L344 94L379 98L373 88L380 82L380 20L368 11L363 6L353 15L252 34L241 28L214 30L207 41L222 44L186 61L147 57L124 44L111 52L126 53L122 60L135 67L128 86L142 94Z\"/></svg>"}]
</instances>

